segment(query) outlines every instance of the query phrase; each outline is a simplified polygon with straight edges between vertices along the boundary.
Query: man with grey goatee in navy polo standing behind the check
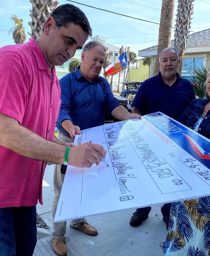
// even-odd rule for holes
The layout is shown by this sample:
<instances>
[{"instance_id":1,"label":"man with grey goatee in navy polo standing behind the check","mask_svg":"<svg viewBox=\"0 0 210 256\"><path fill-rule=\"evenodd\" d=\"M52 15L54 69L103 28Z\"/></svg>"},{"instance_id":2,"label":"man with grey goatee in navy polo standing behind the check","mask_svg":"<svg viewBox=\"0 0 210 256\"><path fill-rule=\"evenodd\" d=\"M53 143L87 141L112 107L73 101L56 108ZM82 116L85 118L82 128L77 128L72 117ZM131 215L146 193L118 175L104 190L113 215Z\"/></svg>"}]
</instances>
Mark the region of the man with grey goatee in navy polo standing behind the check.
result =
<instances>
[{"instance_id":1,"label":"man with grey goatee in navy polo standing behind the check","mask_svg":"<svg viewBox=\"0 0 210 256\"><path fill-rule=\"evenodd\" d=\"M132 113L147 115L160 111L175 120L179 119L195 99L192 84L177 73L179 62L179 54L175 48L168 47L159 53L160 72L141 84L131 105ZM161 207L167 229L170 208L171 204ZM148 218L150 211L151 207L136 209L130 218L130 225L140 226Z\"/></svg>"}]
</instances>

